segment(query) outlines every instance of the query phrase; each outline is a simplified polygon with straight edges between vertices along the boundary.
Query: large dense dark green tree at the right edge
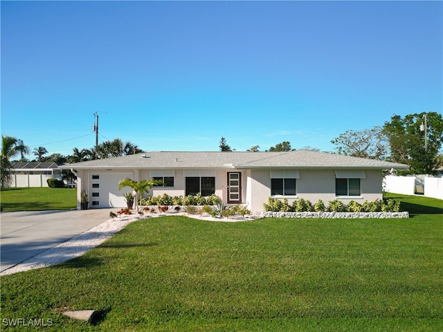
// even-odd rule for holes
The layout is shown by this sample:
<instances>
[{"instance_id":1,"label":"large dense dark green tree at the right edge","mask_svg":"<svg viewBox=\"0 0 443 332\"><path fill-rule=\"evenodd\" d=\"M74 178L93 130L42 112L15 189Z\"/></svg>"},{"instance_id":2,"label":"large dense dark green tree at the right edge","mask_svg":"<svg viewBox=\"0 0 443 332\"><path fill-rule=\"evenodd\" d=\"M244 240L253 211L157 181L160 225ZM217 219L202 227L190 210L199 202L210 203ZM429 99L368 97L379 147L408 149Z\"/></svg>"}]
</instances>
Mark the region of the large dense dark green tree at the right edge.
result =
<instances>
[{"instance_id":1,"label":"large dense dark green tree at the right edge","mask_svg":"<svg viewBox=\"0 0 443 332\"><path fill-rule=\"evenodd\" d=\"M425 131L420 131L424 122ZM435 174L439 167L438 152L443 144L443 117L436 112L414 113L392 116L385 122L383 132L388 137L390 145L390 160L405 163L410 166L410 174ZM425 147L425 140L427 147Z\"/></svg>"}]
</instances>

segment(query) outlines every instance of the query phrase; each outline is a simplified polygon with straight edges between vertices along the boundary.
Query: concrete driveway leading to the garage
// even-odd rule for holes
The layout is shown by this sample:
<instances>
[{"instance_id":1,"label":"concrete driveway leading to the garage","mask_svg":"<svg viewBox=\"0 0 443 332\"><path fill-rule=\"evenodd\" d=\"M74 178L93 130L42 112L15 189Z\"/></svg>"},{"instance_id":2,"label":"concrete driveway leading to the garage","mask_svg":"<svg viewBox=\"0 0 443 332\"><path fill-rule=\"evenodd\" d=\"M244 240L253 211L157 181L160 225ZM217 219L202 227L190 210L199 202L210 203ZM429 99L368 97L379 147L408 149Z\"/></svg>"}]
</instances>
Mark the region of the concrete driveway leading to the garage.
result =
<instances>
[{"instance_id":1,"label":"concrete driveway leading to the garage","mask_svg":"<svg viewBox=\"0 0 443 332\"><path fill-rule=\"evenodd\" d=\"M112 209L2 212L0 271L104 223L109 211Z\"/></svg>"}]
</instances>

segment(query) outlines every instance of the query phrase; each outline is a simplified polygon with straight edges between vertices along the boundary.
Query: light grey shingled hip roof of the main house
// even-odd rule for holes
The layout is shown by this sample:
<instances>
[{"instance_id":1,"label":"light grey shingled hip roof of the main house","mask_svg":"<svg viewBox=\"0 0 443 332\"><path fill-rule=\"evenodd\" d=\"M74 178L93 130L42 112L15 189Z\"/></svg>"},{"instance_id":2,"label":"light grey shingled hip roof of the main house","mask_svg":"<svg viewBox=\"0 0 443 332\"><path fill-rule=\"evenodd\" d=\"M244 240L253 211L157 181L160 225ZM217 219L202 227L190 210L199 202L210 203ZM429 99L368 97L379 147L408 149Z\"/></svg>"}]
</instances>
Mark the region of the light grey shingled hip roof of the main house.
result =
<instances>
[{"instance_id":1,"label":"light grey shingled hip roof of the main house","mask_svg":"<svg viewBox=\"0 0 443 332\"><path fill-rule=\"evenodd\" d=\"M65 164L61 169L408 169L408 165L325 152L185 152L145 151L141 154Z\"/></svg>"}]
</instances>

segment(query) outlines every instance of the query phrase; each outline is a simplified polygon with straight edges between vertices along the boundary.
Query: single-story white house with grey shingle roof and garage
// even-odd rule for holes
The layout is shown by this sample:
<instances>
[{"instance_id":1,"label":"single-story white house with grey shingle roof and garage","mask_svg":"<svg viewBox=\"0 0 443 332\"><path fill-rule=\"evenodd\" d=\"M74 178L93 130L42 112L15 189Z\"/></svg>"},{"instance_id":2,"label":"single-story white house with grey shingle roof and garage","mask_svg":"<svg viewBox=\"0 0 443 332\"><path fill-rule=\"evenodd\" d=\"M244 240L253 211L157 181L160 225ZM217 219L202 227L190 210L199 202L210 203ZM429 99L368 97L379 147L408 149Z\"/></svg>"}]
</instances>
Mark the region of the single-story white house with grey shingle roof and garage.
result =
<instances>
[{"instance_id":1,"label":"single-story white house with grey shingle roof and garage","mask_svg":"<svg viewBox=\"0 0 443 332\"><path fill-rule=\"evenodd\" d=\"M334 199L363 203L382 199L382 170L408 169L408 165L381 160L297 150L289 152L163 152L89 160L66 164L78 178L80 193L89 193L90 208L123 208L118 190L123 178L159 179L150 195L216 194L224 203L246 204L252 212L263 210L269 197L308 199L325 204Z\"/></svg>"}]
</instances>

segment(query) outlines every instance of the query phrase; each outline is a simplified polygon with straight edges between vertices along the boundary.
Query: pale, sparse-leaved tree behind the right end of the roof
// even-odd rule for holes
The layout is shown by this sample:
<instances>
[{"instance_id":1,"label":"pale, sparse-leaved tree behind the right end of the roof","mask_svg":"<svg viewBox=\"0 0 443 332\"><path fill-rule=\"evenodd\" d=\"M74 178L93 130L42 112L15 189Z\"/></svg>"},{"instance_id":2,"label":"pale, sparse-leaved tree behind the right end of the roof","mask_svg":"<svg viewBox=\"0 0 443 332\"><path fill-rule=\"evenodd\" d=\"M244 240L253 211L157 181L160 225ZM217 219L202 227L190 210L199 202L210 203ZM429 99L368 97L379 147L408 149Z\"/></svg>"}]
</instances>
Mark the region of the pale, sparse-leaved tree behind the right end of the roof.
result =
<instances>
[{"instance_id":1,"label":"pale, sparse-leaved tree behind the right end of the roof","mask_svg":"<svg viewBox=\"0 0 443 332\"><path fill-rule=\"evenodd\" d=\"M360 158L384 160L388 153L388 139L381 127L364 129L363 131L348 130L331 140L337 147L338 154Z\"/></svg>"}]
</instances>

